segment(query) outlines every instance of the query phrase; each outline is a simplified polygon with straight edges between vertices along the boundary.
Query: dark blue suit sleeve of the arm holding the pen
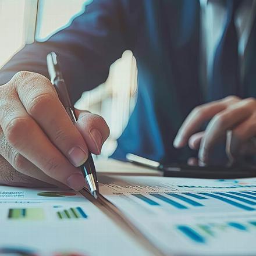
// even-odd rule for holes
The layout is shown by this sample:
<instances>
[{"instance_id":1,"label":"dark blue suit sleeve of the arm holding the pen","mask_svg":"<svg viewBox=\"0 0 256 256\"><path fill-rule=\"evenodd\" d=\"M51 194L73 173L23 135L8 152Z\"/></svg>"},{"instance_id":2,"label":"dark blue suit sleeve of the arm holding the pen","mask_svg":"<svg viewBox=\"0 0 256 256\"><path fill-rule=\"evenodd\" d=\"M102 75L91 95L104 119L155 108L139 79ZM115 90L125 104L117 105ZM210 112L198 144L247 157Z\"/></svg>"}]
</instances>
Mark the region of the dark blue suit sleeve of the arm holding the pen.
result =
<instances>
[{"instance_id":1,"label":"dark blue suit sleeve of the arm holding the pen","mask_svg":"<svg viewBox=\"0 0 256 256\"><path fill-rule=\"evenodd\" d=\"M45 42L26 45L0 70L0 84L7 83L20 70L48 77L46 56L58 54L72 101L81 93L103 83L109 66L129 46L125 44L126 26L122 5L116 0L94 0L69 27Z\"/></svg>"}]
</instances>

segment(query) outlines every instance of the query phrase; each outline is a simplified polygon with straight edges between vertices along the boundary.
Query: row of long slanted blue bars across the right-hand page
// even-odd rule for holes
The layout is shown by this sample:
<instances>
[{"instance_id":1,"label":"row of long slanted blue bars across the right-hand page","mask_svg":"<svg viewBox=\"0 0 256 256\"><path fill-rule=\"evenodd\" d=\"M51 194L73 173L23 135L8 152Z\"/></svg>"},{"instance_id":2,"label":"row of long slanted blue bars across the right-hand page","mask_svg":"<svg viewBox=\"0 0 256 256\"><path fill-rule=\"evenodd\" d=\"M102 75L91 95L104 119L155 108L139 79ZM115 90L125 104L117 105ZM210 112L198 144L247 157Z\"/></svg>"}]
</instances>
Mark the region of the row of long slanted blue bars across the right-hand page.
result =
<instances>
[{"instance_id":1,"label":"row of long slanted blue bars across the right-hand page","mask_svg":"<svg viewBox=\"0 0 256 256\"><path fill-rule=\"evenodd\" d=\"M166 204L175 209L195 209L209 207L207 202L214 200L215 204L226 204L231 209L256 211L256 191L229 191L213 193L148 193L131 194L144 204L151 207L164 207ZM212 204L211 204L212 205Z\"/></svg>"}]
</instances>

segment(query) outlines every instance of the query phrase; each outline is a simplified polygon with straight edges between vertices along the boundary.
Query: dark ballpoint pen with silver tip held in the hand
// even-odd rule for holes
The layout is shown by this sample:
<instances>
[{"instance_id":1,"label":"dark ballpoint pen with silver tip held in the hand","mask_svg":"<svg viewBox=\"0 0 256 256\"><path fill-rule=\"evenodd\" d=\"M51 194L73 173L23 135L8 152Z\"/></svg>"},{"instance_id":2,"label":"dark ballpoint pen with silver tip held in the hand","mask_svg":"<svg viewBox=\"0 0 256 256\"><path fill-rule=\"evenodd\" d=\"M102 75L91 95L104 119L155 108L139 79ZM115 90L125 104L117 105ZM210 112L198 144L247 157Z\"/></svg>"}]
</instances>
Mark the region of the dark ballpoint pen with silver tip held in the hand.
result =
<instances>
[{"instance_id":1,"label":"dark ballpoint pen with silver tip held in the hand","mask_svg":"<svg viewBox=\"0 0 256 256\"><path fill-rule=\"evenodd\" d=\"M76 123L77 118L74 112L74 107L71 103L69 93L67 91L66 83L63 79L61 69L59 67L59 62L57 55L55 52L50 52L47 55L47 67L49 76L51 78L51 83L54 85L55 90L57 91L59 100L62 105L66 109L67 114L73 123ZM91 153L88 153L87 161L80 166L81 172L86 179L88 187L90 189L90 193L93 195L95 199L98 198L98 180L96 175L96 170L93 162L93 158L91 157Z\"/></svg>"}]
</instances>

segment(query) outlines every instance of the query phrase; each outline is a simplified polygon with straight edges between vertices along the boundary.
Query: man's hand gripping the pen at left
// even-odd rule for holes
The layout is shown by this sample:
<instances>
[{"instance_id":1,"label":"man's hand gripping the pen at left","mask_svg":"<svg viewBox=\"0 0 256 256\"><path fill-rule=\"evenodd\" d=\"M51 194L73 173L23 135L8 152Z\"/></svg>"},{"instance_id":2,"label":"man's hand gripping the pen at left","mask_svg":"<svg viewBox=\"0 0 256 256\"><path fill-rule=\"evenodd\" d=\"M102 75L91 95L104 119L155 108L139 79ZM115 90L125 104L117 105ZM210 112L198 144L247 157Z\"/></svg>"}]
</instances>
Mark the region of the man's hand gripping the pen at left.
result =
<instances>
[{"instance_id":1,"label":"man's hand gripping the pen at left","mask_svg":"<svg viewBox=\"0 0 256 256\"><path fill-rule=\"evenodd\" d=\"M76 166L86 161L88 151L101 151L109 134L104 119L81 112L73 125L51 81L38 73L16 73L1 86L0 96L0 183L84 187Z\"/></svg>"}]
</instances>

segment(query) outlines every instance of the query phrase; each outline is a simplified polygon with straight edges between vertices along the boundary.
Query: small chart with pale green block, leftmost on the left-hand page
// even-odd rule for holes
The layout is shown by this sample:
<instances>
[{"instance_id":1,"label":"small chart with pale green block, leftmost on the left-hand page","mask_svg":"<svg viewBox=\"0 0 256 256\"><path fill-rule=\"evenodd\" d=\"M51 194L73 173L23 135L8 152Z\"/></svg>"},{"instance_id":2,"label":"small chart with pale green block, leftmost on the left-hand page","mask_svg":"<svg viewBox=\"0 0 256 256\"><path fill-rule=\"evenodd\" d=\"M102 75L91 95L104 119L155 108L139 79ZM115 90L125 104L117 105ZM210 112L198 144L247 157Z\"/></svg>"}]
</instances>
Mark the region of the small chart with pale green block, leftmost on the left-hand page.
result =
<instances>
[{"instance_id":1,"label":"small chart with pale green block, leftmost on the left-hand page","mask_svg":"<svg viewBox=\"0 0 256 256\"><path fill-rule=\"evenodd\" d=\"M40 221L44 218L44 209L42 208L11 208L8 212L8 219Z\"/></svg>"}]
</instances>

